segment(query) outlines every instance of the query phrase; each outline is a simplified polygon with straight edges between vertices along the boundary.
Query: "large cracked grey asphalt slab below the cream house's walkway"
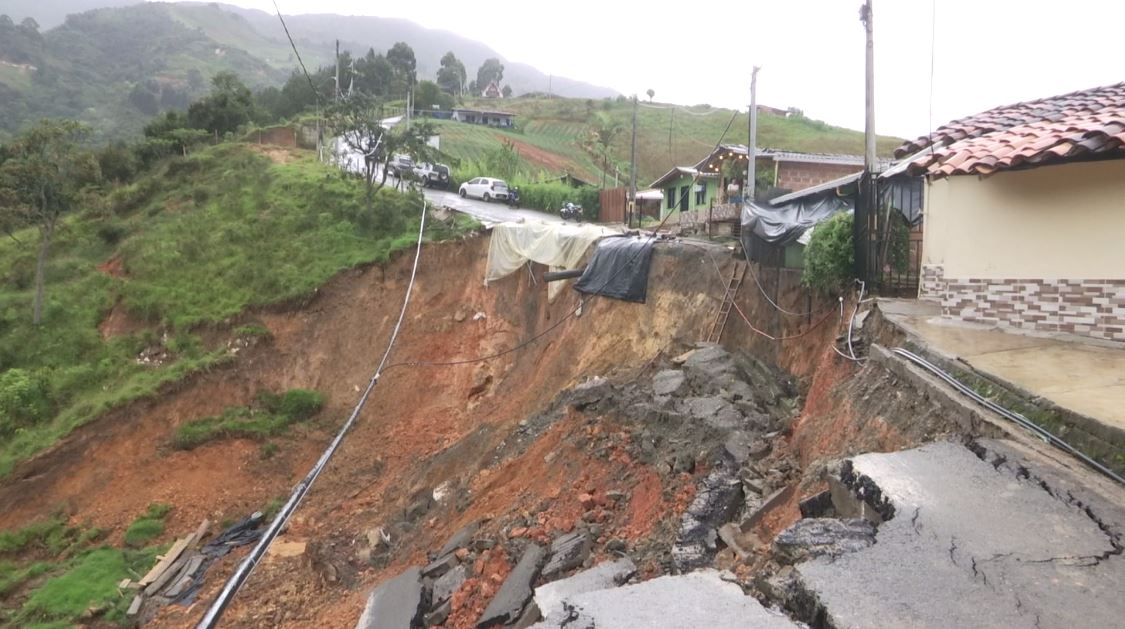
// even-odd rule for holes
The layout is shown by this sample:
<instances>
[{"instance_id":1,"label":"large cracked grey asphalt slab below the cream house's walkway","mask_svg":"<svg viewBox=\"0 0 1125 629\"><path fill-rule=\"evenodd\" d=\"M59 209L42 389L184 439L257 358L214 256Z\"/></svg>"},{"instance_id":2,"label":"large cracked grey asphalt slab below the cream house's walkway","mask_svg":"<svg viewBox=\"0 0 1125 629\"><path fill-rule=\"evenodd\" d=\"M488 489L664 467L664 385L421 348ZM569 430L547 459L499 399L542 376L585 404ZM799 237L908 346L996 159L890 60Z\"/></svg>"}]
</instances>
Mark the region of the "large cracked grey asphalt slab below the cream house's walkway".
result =
<instances>
[{"instance_id":1,"label":"large cracked grey asphalt slab below the cream house's walkway","mask_svg":"<svg viewBox=\"0 0 1125 629\"><path fill-rule=\"evenodd\" d=\"M828 626L1119 626L1119 540L1026 467L993 466L956 443L852 460L896 514L874 546L798 565Z\"/></svg>"}]
</instances>

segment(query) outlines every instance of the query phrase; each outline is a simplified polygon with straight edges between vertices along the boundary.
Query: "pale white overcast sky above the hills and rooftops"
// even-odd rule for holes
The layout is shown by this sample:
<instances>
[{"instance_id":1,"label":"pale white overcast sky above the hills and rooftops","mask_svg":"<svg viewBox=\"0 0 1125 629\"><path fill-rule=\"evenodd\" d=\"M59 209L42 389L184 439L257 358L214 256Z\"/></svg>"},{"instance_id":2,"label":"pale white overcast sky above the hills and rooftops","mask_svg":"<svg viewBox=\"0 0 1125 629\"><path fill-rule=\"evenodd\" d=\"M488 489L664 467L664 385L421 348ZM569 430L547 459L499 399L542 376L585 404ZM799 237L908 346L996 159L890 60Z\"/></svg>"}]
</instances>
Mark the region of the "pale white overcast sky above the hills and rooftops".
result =
<instances>
[{"instance_id":1,"label":"pale white overcast sky above the hills and rooftops","mask_svg":"<svg viewBox=\"0 0 1125 629\"><path fill-rule=\"evenodd\" d=\"M224 1L273 11L270 0ZM1125 80L1125 52L1115 35L1115 26L1125 24L1125 2L934 2L874 0L880 133L925 134L930 105L938 126L998 105ZM551 74L626 95L651 88L665 102L745 108L756 64L763 66L759 104L799 107L812 118L863 128L861 0L278 3L284 14L406 18L480 41Z\"/></svg>"}]
</instances>

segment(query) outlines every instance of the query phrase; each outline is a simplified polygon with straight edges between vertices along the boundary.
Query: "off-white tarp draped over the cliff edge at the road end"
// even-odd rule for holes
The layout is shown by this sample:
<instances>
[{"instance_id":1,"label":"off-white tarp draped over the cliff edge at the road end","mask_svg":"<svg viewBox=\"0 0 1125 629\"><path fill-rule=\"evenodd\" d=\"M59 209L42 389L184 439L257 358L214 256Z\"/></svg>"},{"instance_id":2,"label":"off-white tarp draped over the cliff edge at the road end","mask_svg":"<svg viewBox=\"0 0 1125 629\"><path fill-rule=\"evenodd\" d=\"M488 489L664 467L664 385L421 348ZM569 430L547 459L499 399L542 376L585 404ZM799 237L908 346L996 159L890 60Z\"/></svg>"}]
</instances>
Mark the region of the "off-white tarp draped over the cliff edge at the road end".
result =
<instances>
[{"instance_id":1,"label":"off-white tarp draped over the cliff edge at the road end","mask_svg":"<svg viewBox=\"0 0 1125 629\"><path fill-rule=\"evenodd\" d=\"M591 244L616 233L588 224L501 223L492 230L485 286L514 273L529 261L547 264L552 271L574 269ZM548 297L554 299L564 284L549 284Z\"/></svg>"}]
</instances>

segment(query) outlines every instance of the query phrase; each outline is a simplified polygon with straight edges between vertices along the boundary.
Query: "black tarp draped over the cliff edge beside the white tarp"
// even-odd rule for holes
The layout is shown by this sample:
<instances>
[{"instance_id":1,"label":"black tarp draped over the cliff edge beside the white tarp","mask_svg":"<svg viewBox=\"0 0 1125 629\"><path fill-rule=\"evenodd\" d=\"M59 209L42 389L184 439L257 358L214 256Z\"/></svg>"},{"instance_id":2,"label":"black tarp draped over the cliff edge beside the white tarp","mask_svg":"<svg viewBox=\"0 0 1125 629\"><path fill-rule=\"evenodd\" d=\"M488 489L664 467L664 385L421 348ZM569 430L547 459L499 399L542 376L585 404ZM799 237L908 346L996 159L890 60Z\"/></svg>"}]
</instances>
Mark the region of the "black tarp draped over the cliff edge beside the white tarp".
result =
<instances>
[{"instance_id":1,"label":"black tarp draped over the cliff edge beside the white tarp","mask_svg":"<svg viewBox=\"0 0 1125 629\"><path fill-rule=\"evenodd\" d=\"M644 304L654 243L655 239L649 237L602 239L574 285L575 290Z\"/></svg>"}]
</instances>

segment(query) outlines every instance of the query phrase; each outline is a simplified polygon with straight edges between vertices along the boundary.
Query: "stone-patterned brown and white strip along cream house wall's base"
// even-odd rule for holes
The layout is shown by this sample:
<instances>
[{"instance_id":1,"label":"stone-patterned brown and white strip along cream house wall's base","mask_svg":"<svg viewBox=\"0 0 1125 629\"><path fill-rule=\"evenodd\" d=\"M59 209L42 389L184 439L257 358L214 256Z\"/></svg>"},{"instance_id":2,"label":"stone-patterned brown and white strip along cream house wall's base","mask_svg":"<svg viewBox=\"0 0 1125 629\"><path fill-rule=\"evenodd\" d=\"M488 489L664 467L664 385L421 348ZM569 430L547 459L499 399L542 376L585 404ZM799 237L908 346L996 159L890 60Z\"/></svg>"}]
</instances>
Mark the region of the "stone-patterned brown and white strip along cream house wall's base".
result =
<instances>
[{"instance_id":1,"label":"stone-patterned brown and white strip along cream house wall's base","mask_svg":"<svg viewBox=\"0 0 1125 629\"><path fill-rule=\"evenodd\" d=\"M1125 341L1125 279L946 278L940 264L921 276L919 297L939 300L943 316Z\"/></svg>"}]
</instances>

